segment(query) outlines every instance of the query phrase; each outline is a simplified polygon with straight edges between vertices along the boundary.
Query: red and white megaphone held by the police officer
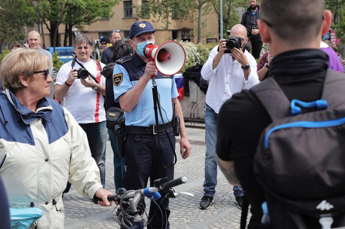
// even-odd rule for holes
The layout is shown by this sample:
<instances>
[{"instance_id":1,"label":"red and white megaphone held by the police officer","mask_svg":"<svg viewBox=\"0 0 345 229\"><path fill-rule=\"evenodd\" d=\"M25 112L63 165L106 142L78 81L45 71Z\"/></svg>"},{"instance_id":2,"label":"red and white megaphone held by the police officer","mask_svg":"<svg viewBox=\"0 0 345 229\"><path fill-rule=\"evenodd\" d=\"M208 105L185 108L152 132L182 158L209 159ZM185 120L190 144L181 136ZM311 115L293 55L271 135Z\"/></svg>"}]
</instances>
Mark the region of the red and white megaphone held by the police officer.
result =
<instances>
[{"instance_id":1,"label":"red and white megaphone held by the police officer","mask_svg":"<svg viewBox=\"0 0 345 229\"><path fill-rule=\"evenodd\" d=\"M186 63L186 52L179 42L168 40L157 46L148 44L144 55L153 61L157 70L163 75L174 75L181 71Z\"/></svg>"}]
</instances>

